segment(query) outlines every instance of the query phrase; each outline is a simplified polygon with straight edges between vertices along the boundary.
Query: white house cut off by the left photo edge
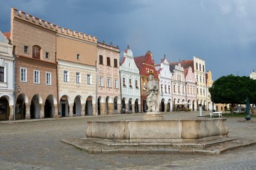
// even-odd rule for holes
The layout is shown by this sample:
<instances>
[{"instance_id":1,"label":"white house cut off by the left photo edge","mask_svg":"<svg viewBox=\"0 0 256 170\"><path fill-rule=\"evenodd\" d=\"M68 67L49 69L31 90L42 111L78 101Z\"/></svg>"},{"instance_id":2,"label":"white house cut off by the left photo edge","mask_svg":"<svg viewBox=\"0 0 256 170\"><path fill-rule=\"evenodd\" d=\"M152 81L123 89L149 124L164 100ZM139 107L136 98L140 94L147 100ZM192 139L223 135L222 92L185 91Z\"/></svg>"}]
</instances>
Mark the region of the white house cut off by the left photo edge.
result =
<instances>
[{"instance_id":1,"label":"white house cut off by the left photo edge","mask_svg":"<svg viewBox=\"0 0 256 170\"><path fill-rule=\"evenodd\" d=\"M0 31L0 120L15 120L13 46ZM14 93L15 92L15 93Z\"/></svg>"}]
</instances>

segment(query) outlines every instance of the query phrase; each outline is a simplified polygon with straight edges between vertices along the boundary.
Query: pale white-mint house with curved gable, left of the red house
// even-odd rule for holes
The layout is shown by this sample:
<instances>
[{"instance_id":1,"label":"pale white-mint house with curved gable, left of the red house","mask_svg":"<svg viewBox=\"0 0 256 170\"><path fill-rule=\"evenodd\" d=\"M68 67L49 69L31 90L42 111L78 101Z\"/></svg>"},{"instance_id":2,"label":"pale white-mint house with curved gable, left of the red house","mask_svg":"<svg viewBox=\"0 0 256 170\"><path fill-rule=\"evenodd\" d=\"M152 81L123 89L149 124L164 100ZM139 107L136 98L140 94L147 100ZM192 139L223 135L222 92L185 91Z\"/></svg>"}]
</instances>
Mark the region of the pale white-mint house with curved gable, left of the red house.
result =
<instances>
[{"instance_id":1,"label":"pale white-mint house with curved gable, left of the red house","mask_svg":"<svg viewBox=\"0 0 256 170\"><path fill-rule=\"evenodd\" d=\"M122 113L140 112L140 71L129 48L123 53L120 63Z\"/></svg>"}]
</instances>

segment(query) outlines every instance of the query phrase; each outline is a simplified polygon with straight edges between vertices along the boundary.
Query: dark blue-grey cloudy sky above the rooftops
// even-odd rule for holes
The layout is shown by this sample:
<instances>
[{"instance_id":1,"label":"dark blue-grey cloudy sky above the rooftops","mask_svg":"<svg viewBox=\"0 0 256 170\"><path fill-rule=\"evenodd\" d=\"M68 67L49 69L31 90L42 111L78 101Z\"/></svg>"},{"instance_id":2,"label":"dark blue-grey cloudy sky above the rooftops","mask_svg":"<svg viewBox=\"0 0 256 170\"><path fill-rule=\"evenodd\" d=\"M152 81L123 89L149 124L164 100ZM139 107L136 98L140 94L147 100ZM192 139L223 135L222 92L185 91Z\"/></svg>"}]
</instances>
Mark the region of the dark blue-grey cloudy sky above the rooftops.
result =
<instances>
[{"instance_id":1,"label":"dark blue-grey cloudy sky above the rooftops","mask_svg":"<svg viewBox=\"0 0 256 170\"><path fill-rule=\"evenodd\" d=\"M133 56L150 50L155 64L206 62L213 81L256 71L255 0L0 0L0 30L11 7L57 26L94 35Z\"/></svg>"}]
</instances>

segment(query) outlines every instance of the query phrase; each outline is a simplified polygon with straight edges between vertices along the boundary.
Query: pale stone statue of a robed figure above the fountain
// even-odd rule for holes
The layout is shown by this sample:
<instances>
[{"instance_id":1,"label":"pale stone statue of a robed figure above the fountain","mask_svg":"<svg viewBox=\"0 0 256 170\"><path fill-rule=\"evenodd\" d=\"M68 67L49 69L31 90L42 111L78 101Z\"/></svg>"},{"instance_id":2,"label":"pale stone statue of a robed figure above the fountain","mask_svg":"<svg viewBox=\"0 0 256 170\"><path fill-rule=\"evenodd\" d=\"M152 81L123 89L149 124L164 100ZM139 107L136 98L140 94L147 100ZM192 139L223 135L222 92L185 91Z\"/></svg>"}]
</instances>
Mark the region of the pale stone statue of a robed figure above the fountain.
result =
<instances>
[{"instance_id":1,"label":"pale stone statue of a robed figure above the fountain","mask_svg":"<svg viewBox=\"0 0 256 170\"><path fill-rule=\"evenodd\" d=\"M147 106L148 111L147 112L159 112L158 108L158 83L153 79L154 76L150 74L148 76L148 84L145 86L145 89L147 89Z\"/></svg>"}]
</instances>

